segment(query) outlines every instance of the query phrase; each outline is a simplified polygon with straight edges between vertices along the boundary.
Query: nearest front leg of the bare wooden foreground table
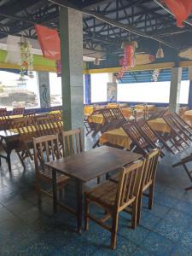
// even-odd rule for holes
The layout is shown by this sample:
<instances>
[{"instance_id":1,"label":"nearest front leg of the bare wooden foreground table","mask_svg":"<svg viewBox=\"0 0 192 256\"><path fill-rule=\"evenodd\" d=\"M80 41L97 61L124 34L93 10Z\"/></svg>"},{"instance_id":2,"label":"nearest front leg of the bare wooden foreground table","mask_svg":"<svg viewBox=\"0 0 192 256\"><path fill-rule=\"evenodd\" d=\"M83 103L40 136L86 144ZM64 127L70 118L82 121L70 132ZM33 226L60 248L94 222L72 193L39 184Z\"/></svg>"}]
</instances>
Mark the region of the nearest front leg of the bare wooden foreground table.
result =
<instances>
[{"instance_id":1,"label":"nearest front leg of the bare wooden foreground table","mask_svg":"<svg viewBox=\"0 0 192 256\"><path fill-rule=\"evenodd\" d=\"M78 232L82 233L83 183L77 180L77 224Z\"/></svg>"}]
</instances>

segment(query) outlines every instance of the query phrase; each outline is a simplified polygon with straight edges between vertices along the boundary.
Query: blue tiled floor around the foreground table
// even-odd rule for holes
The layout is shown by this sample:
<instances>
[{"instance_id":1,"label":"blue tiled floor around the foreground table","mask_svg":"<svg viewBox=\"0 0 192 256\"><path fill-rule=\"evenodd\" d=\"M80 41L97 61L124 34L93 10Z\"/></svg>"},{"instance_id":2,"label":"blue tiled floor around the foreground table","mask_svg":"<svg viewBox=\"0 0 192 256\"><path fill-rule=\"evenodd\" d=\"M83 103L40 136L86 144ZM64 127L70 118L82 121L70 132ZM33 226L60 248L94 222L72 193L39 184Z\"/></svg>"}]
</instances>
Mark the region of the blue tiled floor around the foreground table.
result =
<instances>
[{"instance_id":1,"label":"blue tiled floor around the foreground table","mask_svg":"<svg viewBox=\"0 0 192 256\"><path fill-rule=\"evenodd\" d=\"M86 147L91 143L86 141ZM175 161L173 156L160 161L154 207L148 210L143 198L136 230L129 228L130 216L120 214L117 249L112 251L110 233L97 224L90 222L90 230L79 235L73 215L63 210L54 215L49 198L44 197L40 210L32 163L24 172L13 154L12 175L4 160L0 167L0 255L192 255L192 192L184 191L189 179L182 168L172 169ZM67 193L73 205L73 189Z\"/></svg>"}]
</instances>

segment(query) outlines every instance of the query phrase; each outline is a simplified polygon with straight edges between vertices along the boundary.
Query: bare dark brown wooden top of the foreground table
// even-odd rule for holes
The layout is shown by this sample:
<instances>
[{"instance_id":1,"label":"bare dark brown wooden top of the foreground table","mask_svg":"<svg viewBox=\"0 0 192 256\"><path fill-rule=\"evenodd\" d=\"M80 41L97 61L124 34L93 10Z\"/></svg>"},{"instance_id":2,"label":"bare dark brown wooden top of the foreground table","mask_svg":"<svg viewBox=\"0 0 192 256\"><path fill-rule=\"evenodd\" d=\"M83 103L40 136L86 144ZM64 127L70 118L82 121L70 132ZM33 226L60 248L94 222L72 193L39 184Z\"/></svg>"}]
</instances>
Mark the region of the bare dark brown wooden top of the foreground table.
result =
<instances>
[{"instance_id":1,"label":"bare dark brown wooden top of the foreground table","mask_svg":"<svg viewBox=\"0 0 192 256\"><path fill-rule=\"evenodd\" d=\"M102 146L84 151L80 154L46 163L49 166L69 177L82 182L88 182L131 162L141 159L142 154L136 154L119 148Z\"/></svg>"}]
</instances>

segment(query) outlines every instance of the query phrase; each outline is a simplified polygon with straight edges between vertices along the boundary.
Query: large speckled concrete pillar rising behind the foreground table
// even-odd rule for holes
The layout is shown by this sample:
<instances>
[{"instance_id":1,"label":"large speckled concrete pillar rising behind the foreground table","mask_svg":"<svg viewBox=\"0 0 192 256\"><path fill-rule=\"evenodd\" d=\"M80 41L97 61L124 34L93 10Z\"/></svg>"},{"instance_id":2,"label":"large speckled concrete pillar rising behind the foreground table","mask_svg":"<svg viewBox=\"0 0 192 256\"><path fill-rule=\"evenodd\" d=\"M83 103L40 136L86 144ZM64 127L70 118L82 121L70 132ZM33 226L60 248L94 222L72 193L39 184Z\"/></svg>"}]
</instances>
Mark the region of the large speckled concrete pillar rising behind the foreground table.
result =
<instances>
[{"instance_id":1,"label":"large speckled concrete pillar rising behind the foreground table","mask_svg":"<svg viewBox=\"0 0 192 256\"><path fill-rule=\"evenodd\" d=\"M61 83L64 130L84 131L83 27L82 14L60 9Z\"/></svg>"}]
</instances>

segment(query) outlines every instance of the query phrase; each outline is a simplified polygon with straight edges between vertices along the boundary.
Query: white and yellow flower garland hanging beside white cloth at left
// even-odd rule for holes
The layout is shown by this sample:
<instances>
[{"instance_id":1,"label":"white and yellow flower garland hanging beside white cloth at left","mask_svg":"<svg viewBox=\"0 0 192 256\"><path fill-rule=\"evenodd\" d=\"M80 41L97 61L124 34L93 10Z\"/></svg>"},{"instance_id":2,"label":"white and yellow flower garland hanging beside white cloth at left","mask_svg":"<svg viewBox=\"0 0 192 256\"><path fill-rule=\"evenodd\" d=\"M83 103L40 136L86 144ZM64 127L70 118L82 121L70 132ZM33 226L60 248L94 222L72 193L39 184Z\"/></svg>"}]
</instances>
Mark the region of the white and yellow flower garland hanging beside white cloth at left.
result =
<instances>
[{"instance_id":1,"label":"white and yellow flower garland hanging beside white cloth at left","mask_svg":"<svg viewBox=\"0 0 192 256\"><path fill-rule=\"evenodd\" d=\"M33 55L32 55L32 44L26 41L23 36L20 38L20 78L24 78L26 72L29 77L33 77Z\"/></svg>"}]
</instances>

